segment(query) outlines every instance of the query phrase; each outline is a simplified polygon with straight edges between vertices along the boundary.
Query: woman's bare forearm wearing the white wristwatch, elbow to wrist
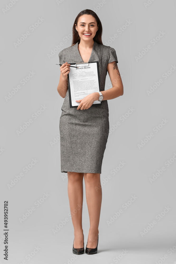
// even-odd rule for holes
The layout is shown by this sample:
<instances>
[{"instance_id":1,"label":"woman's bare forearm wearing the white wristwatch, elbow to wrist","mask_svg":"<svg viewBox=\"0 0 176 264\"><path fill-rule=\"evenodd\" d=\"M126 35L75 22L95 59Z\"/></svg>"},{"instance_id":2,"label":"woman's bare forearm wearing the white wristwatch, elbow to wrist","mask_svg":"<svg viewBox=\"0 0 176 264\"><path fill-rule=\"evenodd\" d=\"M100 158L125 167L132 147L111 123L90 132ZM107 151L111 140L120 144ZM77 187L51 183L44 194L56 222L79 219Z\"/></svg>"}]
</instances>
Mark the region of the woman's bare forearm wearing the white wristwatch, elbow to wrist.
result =
<instances>
[{"instance_id":1,"label":"woman's bare forearm wearing the white wristwatch, elbow to wrist","mask_svg":"<svg viewBox=\"0 0 176 264\"><path fill-rule=\"evenodd\" d=\"M121 95L123 95L123 85L121 87L112 87L106 91L101 91L102 95L103 95L103 100L111 100L114 99L116 97L119 97ZM99 99L99 93L96 92L95 94L95 101Z\"/></svg>"}]
</instances>

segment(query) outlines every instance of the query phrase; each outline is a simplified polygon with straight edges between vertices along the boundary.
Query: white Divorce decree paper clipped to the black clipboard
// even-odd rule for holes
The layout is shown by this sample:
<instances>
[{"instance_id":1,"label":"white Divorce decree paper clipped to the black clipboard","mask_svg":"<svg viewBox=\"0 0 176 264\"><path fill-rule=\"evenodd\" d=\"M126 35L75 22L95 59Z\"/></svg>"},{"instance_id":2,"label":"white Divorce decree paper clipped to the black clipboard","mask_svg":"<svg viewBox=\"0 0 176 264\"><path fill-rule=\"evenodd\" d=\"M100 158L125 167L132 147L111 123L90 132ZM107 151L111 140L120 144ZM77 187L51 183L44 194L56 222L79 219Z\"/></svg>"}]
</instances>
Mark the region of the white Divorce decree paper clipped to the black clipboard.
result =
<instances>
[{"instance_id":1,"label":"white Divorce decree paper clipped to the black clipboard","mask_svg":"<svg viewBox=\"0 0 176 264\"><path fill-rule=\"evenodd\" d=\"M71 64L71 66L76 66L76 64ZM78 106L80 104L80 102L75 102L75 100L83 99L93 92L99 92L97 66L97 62L92 62L88 66L83 64L79 68L70 67L68 81L70 83L72 106ZM96 100L93 104L101 104L101 102Z\"/></svg>"}]
</instances>

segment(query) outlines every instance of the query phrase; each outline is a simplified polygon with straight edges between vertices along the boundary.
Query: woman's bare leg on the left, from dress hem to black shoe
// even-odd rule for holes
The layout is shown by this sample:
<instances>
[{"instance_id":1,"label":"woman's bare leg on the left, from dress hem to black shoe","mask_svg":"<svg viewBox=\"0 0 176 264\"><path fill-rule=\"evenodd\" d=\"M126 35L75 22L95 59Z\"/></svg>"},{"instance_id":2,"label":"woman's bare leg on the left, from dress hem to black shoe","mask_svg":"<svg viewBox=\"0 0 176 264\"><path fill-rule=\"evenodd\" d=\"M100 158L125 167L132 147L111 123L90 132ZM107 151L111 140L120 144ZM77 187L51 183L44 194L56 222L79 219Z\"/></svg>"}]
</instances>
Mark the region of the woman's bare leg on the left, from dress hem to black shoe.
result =
<instances>
[{"instance_id":1,"label":"woman's bare leg on the left, from dress hem to black shoe","mask_svg":"<svg viewBox=\"0 0 176 264\"><path fill-rule=\"evenodd\" d=\"M83 207L83 173L67 172L68 175L68 198L70 213L74 227L74 248L84 247L82 229L82 207Z\"/></svg>"}]
</instances>

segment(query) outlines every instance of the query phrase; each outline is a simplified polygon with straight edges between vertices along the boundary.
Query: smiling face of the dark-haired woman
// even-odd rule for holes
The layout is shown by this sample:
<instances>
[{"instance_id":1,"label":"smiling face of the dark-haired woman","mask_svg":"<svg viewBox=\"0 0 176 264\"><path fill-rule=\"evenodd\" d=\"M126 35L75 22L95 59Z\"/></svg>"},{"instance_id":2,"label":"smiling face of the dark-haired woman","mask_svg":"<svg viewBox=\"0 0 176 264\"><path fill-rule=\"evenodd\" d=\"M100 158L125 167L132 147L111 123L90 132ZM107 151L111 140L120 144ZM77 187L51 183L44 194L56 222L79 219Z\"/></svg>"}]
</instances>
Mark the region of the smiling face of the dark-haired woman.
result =
<instances>
[{"instance_id":1,"label":"smiling face of the dark-haired woman","mask_svg":"<svg viewBox=\"0 0 176 264\"><path fill-rule=\"evenodd\" d=\"M86 39L93 39L98 30L97 21L92 15L80 16L78 19L78 25L76 26L75 24L75 28L78 31L80 38L84 41L86 41Z\"/></svg>"}]
</instances>

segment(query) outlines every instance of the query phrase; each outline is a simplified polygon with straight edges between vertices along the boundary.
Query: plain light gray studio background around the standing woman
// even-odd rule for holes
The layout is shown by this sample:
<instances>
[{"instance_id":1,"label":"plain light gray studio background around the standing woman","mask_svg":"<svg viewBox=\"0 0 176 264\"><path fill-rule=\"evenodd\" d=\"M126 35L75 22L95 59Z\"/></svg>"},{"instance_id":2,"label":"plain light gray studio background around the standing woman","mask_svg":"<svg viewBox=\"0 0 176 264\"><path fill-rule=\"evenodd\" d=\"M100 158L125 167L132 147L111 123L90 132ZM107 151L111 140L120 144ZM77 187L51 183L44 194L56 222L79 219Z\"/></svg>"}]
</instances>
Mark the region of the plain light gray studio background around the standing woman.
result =
<instances>
[{"instance_id":1,"label":"plain light gray studio background around the standing woman","mask_svg":"<svg viewBox=\"0 0 176 264\"><path fill-rule=\"evenodd\" d=\"M176 263L175 250L175 72L162 75L176 63L175 58L175 1L18 1L3 13L10 1L1 1L1 210L0 210L0 263L3 260L3 204L9 201L9 261L8 263L117 263L116 257L128 251L118 263ZM101 4L103 3L103 4ZM101 5L101 7L99 7ZM10 4L11 6L11 4ZM98 7L97 7L98 6ZM69 216L67 174L60 172L59 119L63 98L57 92L60 67L58 53L71 45L75 17L84 9L95 10L103 26L102 41L113 47L118 58L124 94L108 100L110 129L104 153L101 182L102 208L99 224L98 254L88 256L72 254L74 229ZM44 21L32 32L30 26L37 20ZM131 24L120 34L126 20ZM124 27L125 28L125 27ZM30 35L15 48L17 39L30 31ZM150 41L165 34L153 45ZM113 41L111 37L117 34ZM68 41L66 42L66 37ZM109 42L108 42L109 41ZM64 45L56 48L60 43ZM106 44L109 43L109 44ZM136 61L135 56L151 45L151 49ZM55 49L56 48L56 49ZM48 57L54 50L53 56ZM144 53L144 52L143 52ZM6 96L26 78L34 76L9 100ZM147 90L159 79L163 83L150 95ZM105 89L111 88L107 74ZM41 105L45 110L34 119ZM134 111L125 119L129 108ZM33 115L33 117L32 117ZM126 115L127 116L127 115ZM17 130L25 122L33 122L20 134ZM168 120L158 133L153 129ZM119 126L113 125L120 121ZM151 132L154 136L139 149L138 144ZM51 142L55 144L51 146ZM174 156L176 158L176 156ZM172 159L173 158L173 159ZM27 172L23 168L36 159ZM165 162L171 159L170 166ZM126 163L115 175L112 170L120 162ZM165 171L149 181L157 170ZM24 176L11 181L21 172ZM108 182L105 178L111 176ZM49 196L42 200L44 193ZM126 209L123 204L134 195L137 199ZM40 206L36 201L40 200ZM20 218L34 206L35 210L20 223ZM169 211L156 220L166 207ZM110 225L115 212L123 213ZM63 227L53 229L68 218ZM145 235L140 232L156 221ZM61 225L60 225L61 226ZM87 243L89 217L83 201L84 245ZM30 260L25 257L39 247ZM74 259L75 257L76 259ZM91 260L90 260L91 259ZM69 262L70 261L70 262Z\"/></svg>"}]
</instances>

